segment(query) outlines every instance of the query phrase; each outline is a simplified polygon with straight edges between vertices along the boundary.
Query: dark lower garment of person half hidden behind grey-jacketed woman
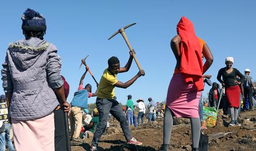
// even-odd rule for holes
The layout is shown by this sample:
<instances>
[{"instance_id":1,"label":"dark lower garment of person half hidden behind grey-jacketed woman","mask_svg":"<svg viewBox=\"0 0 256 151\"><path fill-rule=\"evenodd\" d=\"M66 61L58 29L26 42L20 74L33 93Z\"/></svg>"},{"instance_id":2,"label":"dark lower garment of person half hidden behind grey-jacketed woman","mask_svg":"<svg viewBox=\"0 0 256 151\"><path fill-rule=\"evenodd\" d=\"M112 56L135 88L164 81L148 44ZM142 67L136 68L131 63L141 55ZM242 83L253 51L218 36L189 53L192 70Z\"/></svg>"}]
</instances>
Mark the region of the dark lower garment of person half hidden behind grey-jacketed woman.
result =
<instances>
[{"instance_id":1,"label":"dark lower garment of person half hidden behind grey-jacketed woman","mask_svg":"<svg viewBox=\"0 0 256 151\"><path fill-rule=\"evenodd\" d=\"M66 133L65 133L65 123L64 123L64 111L63 109L54 110L54 147L55 151L66 151ZM69 138L68 138L69 139Z\"/></svg>"}]
</instances>

